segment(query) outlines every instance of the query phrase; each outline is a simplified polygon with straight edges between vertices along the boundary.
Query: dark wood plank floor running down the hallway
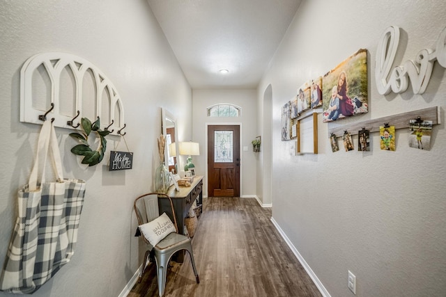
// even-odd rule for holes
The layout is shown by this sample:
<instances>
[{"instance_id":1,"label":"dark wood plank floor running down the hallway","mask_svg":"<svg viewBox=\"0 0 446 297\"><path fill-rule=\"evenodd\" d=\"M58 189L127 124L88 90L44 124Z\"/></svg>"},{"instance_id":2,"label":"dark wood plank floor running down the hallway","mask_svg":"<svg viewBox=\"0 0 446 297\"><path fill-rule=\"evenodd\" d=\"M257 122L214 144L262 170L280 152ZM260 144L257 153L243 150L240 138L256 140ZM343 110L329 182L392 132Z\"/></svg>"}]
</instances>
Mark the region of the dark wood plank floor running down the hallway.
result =
<instances>
[{"instance_id":1,"label":"dark wood plank floor running down the hallway","mask_svg":"<svg viewBox=\"0 0 446 297\"><path fill-rule=\"evenodd\" d=\"M254 198L204 198L190 257L171 261L164 296L321 296ZM158 296L155 264L129 297Z\"/></svg>"}]
</instances>

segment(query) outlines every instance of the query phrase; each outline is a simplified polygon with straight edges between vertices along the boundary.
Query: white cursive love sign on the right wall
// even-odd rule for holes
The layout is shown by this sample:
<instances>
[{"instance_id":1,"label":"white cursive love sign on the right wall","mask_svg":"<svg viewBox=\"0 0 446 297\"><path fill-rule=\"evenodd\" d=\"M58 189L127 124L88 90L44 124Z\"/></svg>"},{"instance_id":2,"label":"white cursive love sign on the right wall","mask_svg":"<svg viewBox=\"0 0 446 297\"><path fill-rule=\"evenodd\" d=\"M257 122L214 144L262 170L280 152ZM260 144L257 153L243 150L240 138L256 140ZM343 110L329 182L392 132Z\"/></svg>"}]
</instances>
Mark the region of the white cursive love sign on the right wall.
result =
<instances>
[{"instance_id":1,"label":"white cursive love sign on the right wall","mask_svg":"<svg viewBox=\"0 0 446 297\"><path fill-rule=\"evenodd\" d=\"M386 95L390 90L394 93L403 93L407 90L409 81L414 94L424 93L431 79L433 63L438 61L438 64L446 68L445 38L446 28L438 37L435 51L422 49L418 51L415 61L408 60L391 70L399 44L399 27L387 28L381 36L376 51L375 79L378 93Z\"/></svg>"}]
</instances>

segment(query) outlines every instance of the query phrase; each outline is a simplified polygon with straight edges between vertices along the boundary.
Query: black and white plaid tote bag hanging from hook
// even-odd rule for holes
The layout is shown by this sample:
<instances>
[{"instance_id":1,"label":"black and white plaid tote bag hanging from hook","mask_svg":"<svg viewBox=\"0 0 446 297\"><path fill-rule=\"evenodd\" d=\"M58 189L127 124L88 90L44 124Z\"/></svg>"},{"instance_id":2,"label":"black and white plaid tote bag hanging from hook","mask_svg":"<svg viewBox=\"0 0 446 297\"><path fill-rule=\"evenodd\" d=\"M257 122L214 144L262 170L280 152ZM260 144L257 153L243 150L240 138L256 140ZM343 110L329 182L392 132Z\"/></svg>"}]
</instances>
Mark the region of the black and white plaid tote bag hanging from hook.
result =
<instances>
[{"instance_id":1,"label":"black and white plaid tote bag hanging from hook","mask_svg":"<svg viewBox=\"0 0 446 297\"><path fill-rule=\"evenodd\" d=\"M44 181L48 152L56 182ZM45 121L29 184L18 193L18 216L0 278L1 291L32 294L70 261L84 195L83 180L63 179L56 133L52 122Z\"/></svg>"}]
</instances>

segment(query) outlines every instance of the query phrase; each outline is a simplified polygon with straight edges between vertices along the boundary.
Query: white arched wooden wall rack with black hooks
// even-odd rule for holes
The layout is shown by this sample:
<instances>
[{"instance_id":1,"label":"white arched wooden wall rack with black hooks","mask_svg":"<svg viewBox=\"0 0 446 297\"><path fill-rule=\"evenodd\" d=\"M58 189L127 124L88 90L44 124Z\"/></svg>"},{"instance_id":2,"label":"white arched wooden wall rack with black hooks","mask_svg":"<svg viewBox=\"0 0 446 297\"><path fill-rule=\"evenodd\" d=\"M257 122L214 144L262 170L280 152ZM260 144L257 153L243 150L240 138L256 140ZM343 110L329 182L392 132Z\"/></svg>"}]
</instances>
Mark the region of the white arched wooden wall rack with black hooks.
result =
<instances>
[{"instance_id":1,"label":"white arched wooden wall rack with black hooks","mask_svg":"<svg viewBox=\"0 0 446 297\"><path fill-rule=\"evenodd\" d=\"M123 135L124 107L118 91L95 65L66 53L32 56L20 70L20 122L75 129L80 119L100 117L101 129Z\"/></svg>"}]
</instances>

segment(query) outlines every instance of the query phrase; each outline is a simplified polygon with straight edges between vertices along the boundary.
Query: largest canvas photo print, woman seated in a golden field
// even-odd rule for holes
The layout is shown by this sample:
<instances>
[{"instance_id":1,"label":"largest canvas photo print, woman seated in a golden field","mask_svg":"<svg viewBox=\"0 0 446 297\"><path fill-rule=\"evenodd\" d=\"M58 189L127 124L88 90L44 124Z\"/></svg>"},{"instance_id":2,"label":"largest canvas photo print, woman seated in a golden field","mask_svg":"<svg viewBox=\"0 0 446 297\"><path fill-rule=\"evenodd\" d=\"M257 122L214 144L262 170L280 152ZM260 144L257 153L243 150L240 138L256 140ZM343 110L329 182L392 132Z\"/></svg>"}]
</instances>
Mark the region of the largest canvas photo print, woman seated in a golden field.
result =
<instances>
[{"instance_id":1,"label":"largest canvas photo print, woman seated in a golden field","mask_svg":"<svg viewBox=\"0 0 446 297\"><path fill-rule=\"evenodd\" d=\"M367 113L367 50L360 49L322 79L323 122Z\"/></svg>"}]
</instances>

